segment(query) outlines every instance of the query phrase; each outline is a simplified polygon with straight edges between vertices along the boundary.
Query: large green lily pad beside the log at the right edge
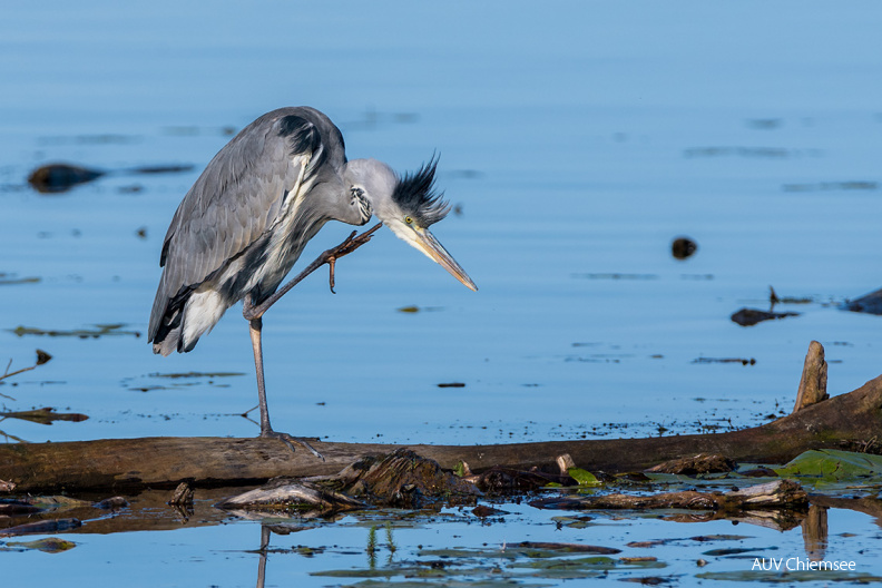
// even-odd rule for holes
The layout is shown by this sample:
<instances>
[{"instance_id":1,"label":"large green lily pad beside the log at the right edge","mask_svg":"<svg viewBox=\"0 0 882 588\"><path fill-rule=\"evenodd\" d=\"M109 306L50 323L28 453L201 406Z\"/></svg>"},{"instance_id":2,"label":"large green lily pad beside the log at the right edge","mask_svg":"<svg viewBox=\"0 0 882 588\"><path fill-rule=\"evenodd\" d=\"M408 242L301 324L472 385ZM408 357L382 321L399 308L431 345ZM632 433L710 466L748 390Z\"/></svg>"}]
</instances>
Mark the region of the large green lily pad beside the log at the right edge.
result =
<instances>
[{"instance_id":1,"label":"large green lily pad beside the log at the right edge","mask_svg":"<svg viewBox=\"0 0 882 588\"><path fill-rule=\"evenodd\" d=\"M782 478L815 478L821 482L866 481L868 478L882 479L882 455L837 449L812 450L774 470Z\"/></svg>"}]
</instances>

